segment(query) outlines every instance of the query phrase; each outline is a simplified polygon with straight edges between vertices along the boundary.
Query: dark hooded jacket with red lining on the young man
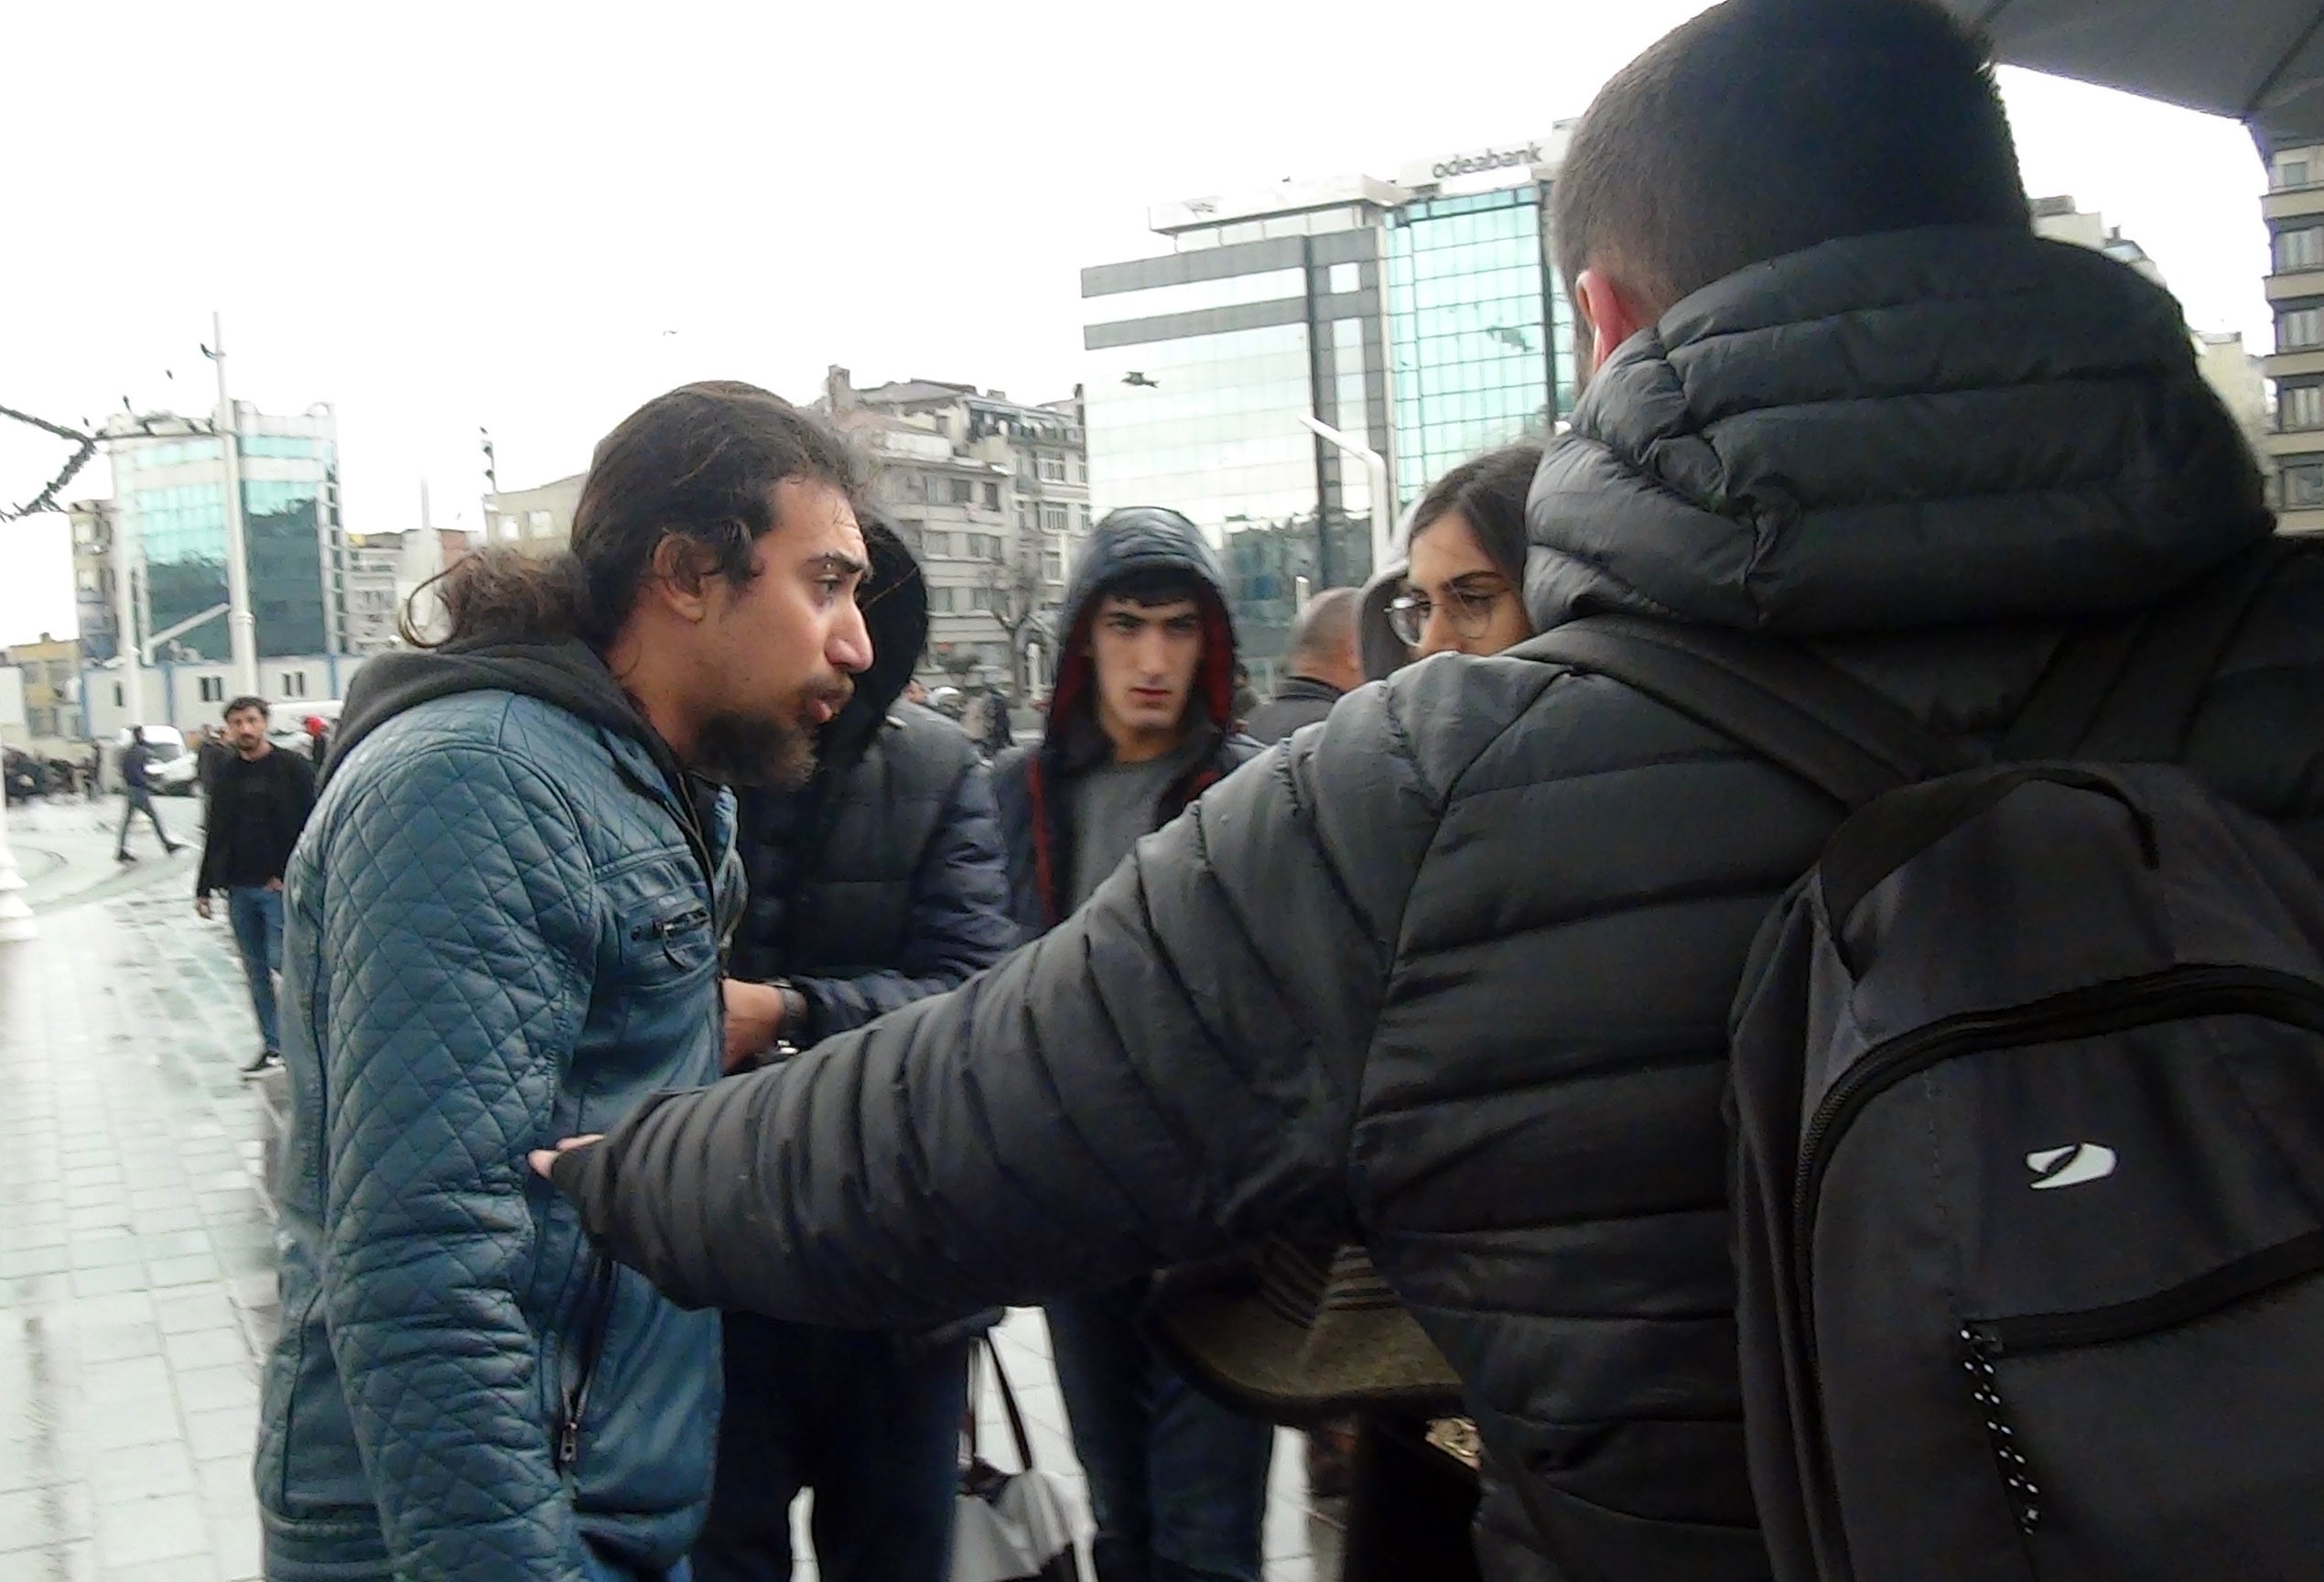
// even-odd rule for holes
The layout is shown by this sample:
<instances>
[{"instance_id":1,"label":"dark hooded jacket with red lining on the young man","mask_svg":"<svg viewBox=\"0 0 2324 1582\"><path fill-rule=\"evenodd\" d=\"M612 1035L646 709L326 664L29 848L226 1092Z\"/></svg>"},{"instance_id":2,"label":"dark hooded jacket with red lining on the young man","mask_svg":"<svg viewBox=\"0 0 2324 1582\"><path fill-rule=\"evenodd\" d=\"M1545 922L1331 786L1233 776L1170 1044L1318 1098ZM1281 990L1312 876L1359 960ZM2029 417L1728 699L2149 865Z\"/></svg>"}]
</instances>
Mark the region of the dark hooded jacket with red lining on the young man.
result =
<instances>
[{"instance_id":1,"label":"dark hooded jacket with red lining on the young man","mask_svg":"<svg viewBox=\"0 0 2324 1582\"><path fill-rule=\"evenodd\" d=\"M1176 511L1129 506L1111 511L1090 534L1074 581L1064 590L1067 639L1057 683L1048 699L1041 743L1009 748L992 760L992 794L1009 841L1009 911L1025 939L1053 929L1074 894L1074 829L1064 785L1106 760L1097 729L1097 667L1090 662L1090 618L1097 599L1136 571L1190 571L1202 585L1202 669L1195 671L1192 706L1206 748L1176 785L1162 792L1155 829L1174 820L1195 797L1250 760L1260 743L1220 720L1234 718L1234 620L1218 574L1218 558L1202 530Z\"/></svg>"}]
</instances>

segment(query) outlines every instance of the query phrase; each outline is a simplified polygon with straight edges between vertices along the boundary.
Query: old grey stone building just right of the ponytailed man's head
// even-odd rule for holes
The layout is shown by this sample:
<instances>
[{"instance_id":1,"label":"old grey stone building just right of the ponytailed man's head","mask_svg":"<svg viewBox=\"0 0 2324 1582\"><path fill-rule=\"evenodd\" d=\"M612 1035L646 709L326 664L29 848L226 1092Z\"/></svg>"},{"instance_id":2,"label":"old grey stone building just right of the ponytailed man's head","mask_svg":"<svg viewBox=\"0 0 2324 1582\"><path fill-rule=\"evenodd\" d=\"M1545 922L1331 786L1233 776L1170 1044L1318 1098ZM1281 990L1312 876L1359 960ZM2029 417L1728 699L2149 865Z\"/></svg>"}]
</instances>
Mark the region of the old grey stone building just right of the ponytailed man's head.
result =
<instances>
[{"instance_id":1,"label":"old grey stone building just right of the ponytailed man's head","mask_svg":"<svg viewBox=\"0 0 2324 1582\"><path fill-rule=\"evenodd\" d=\"M816 411L871 458L874 499L920 562L923 681L1046 685L1067 558L1090 532L1081 395L1027 407L934 379L858 390L832 367Z\"/></svg>"}]
</instances>

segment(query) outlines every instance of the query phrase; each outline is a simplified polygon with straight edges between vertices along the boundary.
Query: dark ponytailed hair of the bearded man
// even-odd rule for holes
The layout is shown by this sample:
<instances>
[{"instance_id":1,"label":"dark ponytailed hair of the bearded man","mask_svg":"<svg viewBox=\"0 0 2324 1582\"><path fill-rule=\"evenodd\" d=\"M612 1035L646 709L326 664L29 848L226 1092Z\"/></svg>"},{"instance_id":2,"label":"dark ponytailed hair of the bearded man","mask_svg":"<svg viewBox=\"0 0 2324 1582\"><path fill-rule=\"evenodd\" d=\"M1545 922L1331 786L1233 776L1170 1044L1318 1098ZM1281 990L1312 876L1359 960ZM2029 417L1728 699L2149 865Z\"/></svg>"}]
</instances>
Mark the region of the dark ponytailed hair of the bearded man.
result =
<instances>
[{"instance_id":1,"label":"dark ponytailed hair of the bearded man","mask_svg":"<svg viewBox=\"0 0 2324 1582\"><path fill-rule=\"evenodd\" d=\"M597 444L572 548L465 555L423 585L442 602L446 630L418 632L407 604L404 641L465 648L576 637L604 648L637 606L667 537L693 544L700 574L751 581L753 546L774 530L774 486L783 479L830 483L848 499L862 492L848 444L769 390L713 379L658 395Z\"/></svg>"}]
</instances>

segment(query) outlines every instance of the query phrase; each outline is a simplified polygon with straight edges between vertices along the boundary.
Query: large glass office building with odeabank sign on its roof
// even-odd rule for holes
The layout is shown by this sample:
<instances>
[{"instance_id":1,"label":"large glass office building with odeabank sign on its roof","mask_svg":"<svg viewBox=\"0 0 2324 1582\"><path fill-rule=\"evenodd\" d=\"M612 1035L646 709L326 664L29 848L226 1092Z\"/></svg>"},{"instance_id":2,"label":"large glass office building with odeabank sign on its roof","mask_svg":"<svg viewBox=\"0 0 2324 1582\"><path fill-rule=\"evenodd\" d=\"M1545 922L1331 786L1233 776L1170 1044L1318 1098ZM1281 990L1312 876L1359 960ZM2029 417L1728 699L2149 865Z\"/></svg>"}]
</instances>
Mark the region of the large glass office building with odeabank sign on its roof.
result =
<instances>
[{"instance_id":1,"label":"large glass office building with odeabank sign on its roof","mask_svg":"<svg viewBox=\"0 0 2324 1582\"><path fill-rule=\"evenodd\" d=\"M1394 513L1571 407L1548 223L1566 132L1162 204L1169 253L1081 272L1095 509L1174 506L1211 534L1262 681L1301 581L1371 574L1367 469L1301 418L1385 458Z\"/></svg>"}]
</instances>

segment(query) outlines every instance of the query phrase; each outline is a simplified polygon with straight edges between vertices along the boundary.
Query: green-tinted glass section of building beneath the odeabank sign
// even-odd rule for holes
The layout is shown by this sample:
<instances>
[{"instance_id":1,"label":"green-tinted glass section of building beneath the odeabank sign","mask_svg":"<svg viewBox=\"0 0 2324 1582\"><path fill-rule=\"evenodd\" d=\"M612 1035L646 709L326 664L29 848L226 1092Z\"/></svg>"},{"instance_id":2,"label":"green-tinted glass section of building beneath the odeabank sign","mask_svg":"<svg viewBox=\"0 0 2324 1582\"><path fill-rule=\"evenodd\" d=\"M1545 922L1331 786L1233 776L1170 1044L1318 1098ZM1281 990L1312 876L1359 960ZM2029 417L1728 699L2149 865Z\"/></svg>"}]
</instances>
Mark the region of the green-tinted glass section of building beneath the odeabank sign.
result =
<instances>
[{"instance_id":1,"label":"green-tinted glass section of building beneath the odeabank sign","mask_svg":"<svg viewBox=\"0 0 2324 1582\"><path fill-rule=\"evenodd\" d=\"M1427 197L1387 216L1397 502L1573 407L1573 309L1545 188Z\"/></svg>"}]
</instances>

